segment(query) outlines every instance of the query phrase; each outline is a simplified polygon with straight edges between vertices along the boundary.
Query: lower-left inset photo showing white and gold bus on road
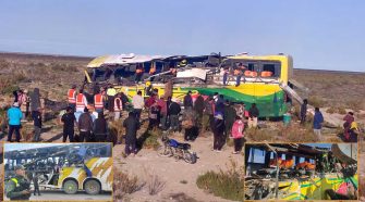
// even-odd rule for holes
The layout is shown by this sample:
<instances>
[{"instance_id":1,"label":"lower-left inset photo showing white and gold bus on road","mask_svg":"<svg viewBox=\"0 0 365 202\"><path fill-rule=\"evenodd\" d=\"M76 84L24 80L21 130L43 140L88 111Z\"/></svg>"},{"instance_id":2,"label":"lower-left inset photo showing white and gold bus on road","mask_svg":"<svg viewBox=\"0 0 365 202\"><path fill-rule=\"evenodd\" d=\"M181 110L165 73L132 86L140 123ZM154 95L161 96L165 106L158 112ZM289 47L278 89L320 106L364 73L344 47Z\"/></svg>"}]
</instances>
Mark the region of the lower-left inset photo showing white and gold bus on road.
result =
<instances>
[{"instance_id":1,"label":"lower-left inset photo showing white and gold bus on road","mask_svg":"<svg viewBox=\"0 0 365 202\"><path fill-rule=\"evenodd\" d=\"M111 143L5 143L4 201L111 201Z\"/></svg>"}]
</instances>

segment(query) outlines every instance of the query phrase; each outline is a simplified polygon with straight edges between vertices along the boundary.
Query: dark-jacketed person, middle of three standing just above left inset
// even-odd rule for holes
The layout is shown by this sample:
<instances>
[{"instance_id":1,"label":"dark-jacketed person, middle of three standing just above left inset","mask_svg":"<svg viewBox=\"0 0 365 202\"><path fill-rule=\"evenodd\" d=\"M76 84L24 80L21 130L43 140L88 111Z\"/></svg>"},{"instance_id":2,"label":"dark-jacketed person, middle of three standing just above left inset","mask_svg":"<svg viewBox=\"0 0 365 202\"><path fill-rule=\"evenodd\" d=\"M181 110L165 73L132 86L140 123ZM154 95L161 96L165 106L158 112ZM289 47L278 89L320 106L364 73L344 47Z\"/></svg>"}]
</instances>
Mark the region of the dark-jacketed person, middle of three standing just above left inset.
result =
<instances>
[{"instance_id":1,"label":"dark-jacketed person, middle of three standing just above left inset","mask_svg":"<svg viewBox=\"0 0 365 202\"><path fill-rule=\"evenodd\" d=\"M80 131L80 142L90 142L93 141L93 117L87 108L84 109L84 113L78 117L78 131Z\"/></svg>"}]
</instances>

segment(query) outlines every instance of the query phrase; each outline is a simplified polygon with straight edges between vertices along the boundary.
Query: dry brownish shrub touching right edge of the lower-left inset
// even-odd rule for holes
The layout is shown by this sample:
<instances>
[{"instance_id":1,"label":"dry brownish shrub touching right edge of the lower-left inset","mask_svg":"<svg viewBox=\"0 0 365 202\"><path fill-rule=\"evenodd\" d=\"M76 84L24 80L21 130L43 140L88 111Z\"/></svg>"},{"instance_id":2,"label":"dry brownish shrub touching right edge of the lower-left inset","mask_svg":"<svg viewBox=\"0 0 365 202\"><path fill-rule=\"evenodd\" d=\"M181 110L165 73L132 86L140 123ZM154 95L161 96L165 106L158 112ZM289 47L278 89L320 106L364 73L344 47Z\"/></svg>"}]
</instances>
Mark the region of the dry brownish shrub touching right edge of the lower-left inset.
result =
<instances>
[{"instance_id":1,"label":"dry brownish shrub touching right edge of the lower-left inset","mask_svg":"<svg viewBox=\"0 0 365 202\"><path fill-rule=\"evenodd\" d=\"M114 201L123 200L125 195L139 191L145 186L145 182L138 179L137 176L131 177L130 175L118 169L114 169L113 174Z\"/></svg>"}]
</instances>

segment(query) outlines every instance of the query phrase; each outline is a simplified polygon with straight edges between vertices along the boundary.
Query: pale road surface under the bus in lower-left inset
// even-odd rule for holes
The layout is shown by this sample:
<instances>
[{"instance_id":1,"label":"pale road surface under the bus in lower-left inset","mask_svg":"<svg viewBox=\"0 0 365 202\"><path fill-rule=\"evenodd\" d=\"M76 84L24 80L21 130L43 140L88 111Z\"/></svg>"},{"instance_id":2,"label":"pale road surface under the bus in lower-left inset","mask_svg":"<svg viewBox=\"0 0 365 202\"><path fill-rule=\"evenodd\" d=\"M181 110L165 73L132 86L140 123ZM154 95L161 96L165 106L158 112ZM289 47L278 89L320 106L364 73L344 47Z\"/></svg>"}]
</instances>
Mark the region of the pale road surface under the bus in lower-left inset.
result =
<instances>
[{"instance_id":1,"label":"pale road surface under the bus in lower-left inset","mask_svg":"<svg viewBox=\"0 0 365 202\"><path fill-rule=\"evenodd\" d=\"M39 195L32 195L31 201L111 201L111 192L106 192L97 195L89 195L84 192L78 192L76 194L65 194L61 191L45 191L42 190ZM9 201L5 198L5 201Z\"/></svg>"}]
</instances>

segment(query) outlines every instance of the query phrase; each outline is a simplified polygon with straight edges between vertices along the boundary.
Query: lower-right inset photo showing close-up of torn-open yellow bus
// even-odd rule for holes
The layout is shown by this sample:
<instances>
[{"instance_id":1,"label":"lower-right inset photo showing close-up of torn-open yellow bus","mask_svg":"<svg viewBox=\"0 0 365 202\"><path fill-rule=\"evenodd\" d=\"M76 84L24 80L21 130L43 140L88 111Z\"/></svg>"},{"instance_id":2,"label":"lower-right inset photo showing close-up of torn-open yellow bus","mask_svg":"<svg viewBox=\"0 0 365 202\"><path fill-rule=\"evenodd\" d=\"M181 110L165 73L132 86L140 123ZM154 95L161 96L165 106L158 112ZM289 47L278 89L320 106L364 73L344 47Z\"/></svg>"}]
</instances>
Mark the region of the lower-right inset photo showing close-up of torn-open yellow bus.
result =
<instances>
[{"instance_id":1,"label":"lower-right inset photo showing close-up of torn-open yellow bus","mask_svg":"<svg viewBox=\"0 0 365 202\"><path fill-rule=\"evenodd\" d=\"M245 200L357 200L357 143L245 144Z\"/></svg>"}]
</instances>

